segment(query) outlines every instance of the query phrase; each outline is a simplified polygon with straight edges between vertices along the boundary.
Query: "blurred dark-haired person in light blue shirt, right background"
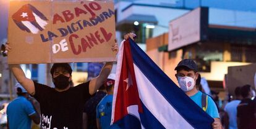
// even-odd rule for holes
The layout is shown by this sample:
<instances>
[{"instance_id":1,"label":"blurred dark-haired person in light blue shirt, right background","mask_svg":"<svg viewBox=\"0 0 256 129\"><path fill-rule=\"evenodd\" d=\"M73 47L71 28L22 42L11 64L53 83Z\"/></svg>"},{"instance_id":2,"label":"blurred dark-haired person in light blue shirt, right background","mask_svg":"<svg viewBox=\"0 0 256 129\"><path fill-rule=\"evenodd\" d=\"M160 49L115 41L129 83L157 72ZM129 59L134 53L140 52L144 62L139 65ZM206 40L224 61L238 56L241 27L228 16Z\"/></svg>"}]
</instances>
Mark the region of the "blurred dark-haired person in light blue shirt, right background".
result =
<instances>
[{"instance_id":1,"label":"blurred dark-haired person in light blue shirt, right background","mask_svg":"<svg viewBox=\"0 0 256 129\"><path fill-rule=\"evenodd\" d=\"M242 96L241 96L241 87L236 87L234 90L235 98L233 101L230 101L226 104L224 108L224 127L226 129L237 129L236 123L236 115L237 115L237 106L241 103Z\"/></svg>"}]
</instances>

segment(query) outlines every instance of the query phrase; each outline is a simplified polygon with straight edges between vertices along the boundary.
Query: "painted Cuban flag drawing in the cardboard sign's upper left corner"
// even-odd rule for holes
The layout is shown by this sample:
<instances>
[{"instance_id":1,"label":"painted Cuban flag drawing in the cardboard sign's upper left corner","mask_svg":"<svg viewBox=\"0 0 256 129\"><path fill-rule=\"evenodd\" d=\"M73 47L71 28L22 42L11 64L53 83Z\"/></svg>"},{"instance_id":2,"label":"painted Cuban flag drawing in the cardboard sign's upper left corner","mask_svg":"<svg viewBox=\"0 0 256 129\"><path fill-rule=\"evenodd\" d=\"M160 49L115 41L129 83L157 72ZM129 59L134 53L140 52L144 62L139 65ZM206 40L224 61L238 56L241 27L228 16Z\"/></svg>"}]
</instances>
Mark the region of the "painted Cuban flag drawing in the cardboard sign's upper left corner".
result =
<instances>
[{"instance_id":1,"label":"painted Cuban flag drawing in the cardboard sign's upper left corner","mask_svg":"<svg viewBox=\"0 0 256 129\"><path fill-rule=\"evenodd\" d=\"M39 10L37 10L31 4L25 4L14 15L12 20L23 31L28 33L37 34L39 31L43 31L48 24L48 19Z\"/></svg>"}]
</instances>

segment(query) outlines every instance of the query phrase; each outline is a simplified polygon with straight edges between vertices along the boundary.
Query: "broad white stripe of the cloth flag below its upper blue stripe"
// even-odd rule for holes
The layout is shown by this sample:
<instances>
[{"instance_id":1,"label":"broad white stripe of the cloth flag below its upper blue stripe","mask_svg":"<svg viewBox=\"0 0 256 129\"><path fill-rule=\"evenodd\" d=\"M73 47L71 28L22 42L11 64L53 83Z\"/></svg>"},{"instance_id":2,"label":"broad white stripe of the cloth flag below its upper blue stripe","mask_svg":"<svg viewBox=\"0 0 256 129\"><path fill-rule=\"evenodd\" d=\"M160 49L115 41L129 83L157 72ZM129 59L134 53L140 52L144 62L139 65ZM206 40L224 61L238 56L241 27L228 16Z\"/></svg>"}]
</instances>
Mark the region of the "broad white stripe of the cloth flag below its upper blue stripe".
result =
<instances>
[{"instance_id":1,"label":"broad white stripe of the cloth flag below its upper blue stripe","mask_svg":"<svg viewBox=\"0 0 256 129\"><path fill-rule=\"evenodd\" d=\"M134 64L140 100L164 128L193 128L151 84L142 71ZM166 85L167 87L167 85Z\"/></svg>"}]
</instances>

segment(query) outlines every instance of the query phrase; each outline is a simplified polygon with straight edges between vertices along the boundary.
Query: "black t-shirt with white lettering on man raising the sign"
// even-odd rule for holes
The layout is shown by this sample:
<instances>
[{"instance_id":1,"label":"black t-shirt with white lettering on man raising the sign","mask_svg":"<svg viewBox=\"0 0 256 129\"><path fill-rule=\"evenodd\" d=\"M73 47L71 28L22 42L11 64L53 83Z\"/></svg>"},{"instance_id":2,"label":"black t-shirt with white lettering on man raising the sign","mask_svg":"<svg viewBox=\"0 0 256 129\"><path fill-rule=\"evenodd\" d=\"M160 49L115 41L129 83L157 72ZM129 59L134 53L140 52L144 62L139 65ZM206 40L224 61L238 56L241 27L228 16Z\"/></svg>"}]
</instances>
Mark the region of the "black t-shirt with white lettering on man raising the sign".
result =
<instances>
[{"instance_id":1,"label":"black t-shirt with white lettering on man raising the sign","mask_svg":"<svg viewBox=\"0 0 256 129\"><path fill-rule=\"evenodd\" d=\"M71 87L64 92L34 82L35 99L41 108L41 128L82 128L83 106L91 97L89 82Z\"/></svg>"}]
</instances>

